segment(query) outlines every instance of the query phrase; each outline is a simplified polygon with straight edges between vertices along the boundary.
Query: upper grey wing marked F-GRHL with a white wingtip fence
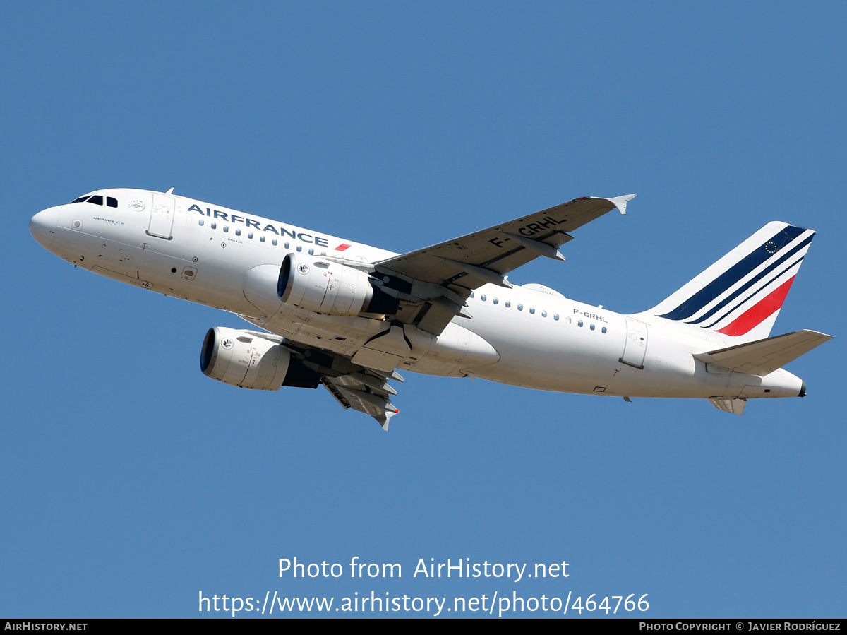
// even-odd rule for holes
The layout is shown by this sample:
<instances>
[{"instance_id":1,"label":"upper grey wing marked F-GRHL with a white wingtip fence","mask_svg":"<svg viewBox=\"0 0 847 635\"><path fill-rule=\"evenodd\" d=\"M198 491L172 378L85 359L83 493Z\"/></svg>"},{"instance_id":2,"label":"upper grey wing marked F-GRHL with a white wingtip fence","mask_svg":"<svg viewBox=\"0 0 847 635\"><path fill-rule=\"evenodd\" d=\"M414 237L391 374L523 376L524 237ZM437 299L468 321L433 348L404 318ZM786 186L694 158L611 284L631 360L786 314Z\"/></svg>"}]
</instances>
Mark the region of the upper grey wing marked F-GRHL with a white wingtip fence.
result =
<instances>
[{"instance_id":1,"label":"upper grey wing marked F-GRHL with a white wingtip fence","mask_svg":"<svg viewBox=\"0 0 847 635\"><path fill-rule=\"evenodd\" d=\"M564 260L558 248L573 239L570 231L612 209L626 214L634 196L574 198L374 266L383 290L407 304L397 318L437 335L455 316L469 317L463 308L473 289L488 283L511 288L506 274L539 256Z\"/></svg>"}]
</instances>

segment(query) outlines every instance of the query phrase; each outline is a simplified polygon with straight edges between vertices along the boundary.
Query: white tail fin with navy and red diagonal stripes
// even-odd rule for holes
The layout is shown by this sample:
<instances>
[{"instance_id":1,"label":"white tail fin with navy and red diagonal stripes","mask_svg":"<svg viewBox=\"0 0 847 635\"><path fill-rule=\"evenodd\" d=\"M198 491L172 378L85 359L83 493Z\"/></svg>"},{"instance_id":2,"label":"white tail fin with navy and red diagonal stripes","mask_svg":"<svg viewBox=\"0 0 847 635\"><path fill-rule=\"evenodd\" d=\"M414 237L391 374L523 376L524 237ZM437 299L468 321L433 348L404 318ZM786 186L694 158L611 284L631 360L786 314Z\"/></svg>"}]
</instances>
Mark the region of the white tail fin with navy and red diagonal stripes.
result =
<instances>
[{"instance_id":1,"label":"white tail fin with navy and red diagonal stripes","mask_svg":"<svg viewBox=\"0 0 847 635\"><path fill-rule=\"evenodd\" d=\"M771 332L815 232L773 221L647 311L733 338Z\"/></svg>"}]
</instances>

